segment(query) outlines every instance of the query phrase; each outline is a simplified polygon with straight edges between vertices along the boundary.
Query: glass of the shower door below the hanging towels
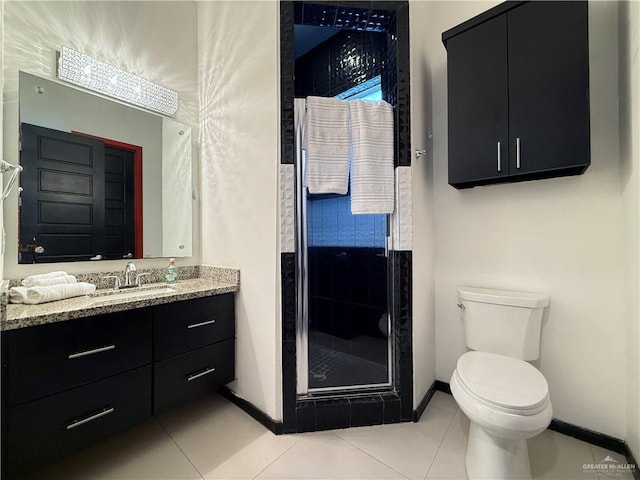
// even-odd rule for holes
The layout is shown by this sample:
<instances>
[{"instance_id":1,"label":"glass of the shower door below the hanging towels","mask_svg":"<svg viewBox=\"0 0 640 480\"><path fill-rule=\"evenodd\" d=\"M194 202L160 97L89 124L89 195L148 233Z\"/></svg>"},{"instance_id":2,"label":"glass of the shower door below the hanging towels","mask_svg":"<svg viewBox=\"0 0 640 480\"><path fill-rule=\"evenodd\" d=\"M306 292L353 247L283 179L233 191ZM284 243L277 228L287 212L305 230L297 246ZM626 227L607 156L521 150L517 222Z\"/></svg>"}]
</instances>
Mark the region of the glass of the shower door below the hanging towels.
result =
<instances>
[{"instance_id":1,"label":"glass of the shower door below the hanging towels","mask_svg":"<svg viewBox=\"0 0 640 480\"><path fill-rule=\"evenodd\" d=\"M307 194L308 390L390 384L387 215Z\"/></svg>"}]
</instances>

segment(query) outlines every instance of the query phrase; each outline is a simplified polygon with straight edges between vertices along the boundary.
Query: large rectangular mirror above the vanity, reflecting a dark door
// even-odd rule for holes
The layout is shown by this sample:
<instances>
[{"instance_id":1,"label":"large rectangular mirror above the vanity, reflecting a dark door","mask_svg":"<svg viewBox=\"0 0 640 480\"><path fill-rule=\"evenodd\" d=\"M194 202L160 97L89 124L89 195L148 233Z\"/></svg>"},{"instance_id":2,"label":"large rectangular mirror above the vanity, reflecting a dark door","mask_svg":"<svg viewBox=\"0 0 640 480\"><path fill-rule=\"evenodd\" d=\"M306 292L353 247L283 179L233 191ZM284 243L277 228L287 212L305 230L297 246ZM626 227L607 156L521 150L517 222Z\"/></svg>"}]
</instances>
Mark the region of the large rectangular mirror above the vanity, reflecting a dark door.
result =
<instances>
[{"instance_id":1,"label":"large rectangular mirror above the vanity, reflecting a dark door","mask_svg":"<svg viewBox=\"0 0 640 480\"><path fill-rule=\"evenodd\" d=\"M19 263L192 255L191 128L19 72Z\"/></svg>"}]
</instances>

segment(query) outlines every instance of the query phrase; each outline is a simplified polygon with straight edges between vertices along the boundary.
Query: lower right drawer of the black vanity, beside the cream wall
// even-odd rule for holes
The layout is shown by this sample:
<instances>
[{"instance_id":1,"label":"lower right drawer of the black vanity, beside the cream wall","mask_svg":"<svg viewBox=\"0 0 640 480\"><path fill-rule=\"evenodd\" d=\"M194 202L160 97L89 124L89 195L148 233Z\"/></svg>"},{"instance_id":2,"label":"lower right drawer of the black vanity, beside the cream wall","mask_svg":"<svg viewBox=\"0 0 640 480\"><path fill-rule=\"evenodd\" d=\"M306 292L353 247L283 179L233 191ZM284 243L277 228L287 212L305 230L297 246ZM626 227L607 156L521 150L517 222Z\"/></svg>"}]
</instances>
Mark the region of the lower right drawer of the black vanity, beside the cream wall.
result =
<instances>
[{"instance_id":1,"label":"lower right drawer of the black vanity, beside the cream wall","mask_svg":"<svg viewBox=\"0 0 640 480\"><path fill-rule=\"evenodd\" d=\"M154 365L154 414L212 392L235 379L235 340L229 339Z\"/></svg>"}]
</instances>

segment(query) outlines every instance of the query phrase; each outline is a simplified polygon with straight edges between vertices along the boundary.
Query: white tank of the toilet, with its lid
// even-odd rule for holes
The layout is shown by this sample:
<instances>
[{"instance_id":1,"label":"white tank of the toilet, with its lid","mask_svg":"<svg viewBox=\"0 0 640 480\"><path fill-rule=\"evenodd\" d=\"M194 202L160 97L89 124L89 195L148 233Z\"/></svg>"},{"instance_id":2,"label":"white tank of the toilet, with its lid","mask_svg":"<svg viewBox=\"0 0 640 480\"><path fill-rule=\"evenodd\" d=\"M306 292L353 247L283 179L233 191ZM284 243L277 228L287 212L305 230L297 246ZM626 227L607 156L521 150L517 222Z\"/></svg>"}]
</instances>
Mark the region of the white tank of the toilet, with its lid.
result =
<instances>
[{"instance_id":1,"label":"white tank of the toilet, with its lid","mask_svg":"<svg viewBox=\"0 0 640 480\"><path fill-rule=\"evenodd\" d=\"M547 295L460 287L458 299L467 347L527 361L540 356L542 312L549 304Z\"/></svg>"}]
</instances>

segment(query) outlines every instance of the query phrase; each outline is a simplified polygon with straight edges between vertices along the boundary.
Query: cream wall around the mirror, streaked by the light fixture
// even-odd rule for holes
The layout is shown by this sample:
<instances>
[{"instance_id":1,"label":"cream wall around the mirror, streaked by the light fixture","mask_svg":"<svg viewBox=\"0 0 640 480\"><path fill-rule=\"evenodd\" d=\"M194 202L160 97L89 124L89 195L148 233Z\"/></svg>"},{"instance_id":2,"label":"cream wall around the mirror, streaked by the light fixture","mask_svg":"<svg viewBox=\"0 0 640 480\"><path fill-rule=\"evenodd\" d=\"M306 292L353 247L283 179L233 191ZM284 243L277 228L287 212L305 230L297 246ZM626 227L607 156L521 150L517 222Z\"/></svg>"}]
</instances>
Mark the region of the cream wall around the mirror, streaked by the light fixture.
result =
<instances>
[{"instance_id":1,"label":"cream wall around the mirror, streaked by the light fixture","mask_svg":"<svg viewBox=\"0 0 640 480\"><path fill-rule=\"evenodd\" d=\"M77 49L176 90L176 120L199 124L195 2L3 2L4 158L18 158L18 70L55 80L56 50ZM198 181L197 149L193 175ZM194 204L194 255L178 263L199 263L200 212ZM51 270L47 264L17 265L17 194L4 205L7 255L4 275L15 278ZM164 266L164 259L136 260L139 267ZM70 272L124 269L125 261L57 264ZM56 268L57 268L56 267Z\"/></svg>"}]
</instances>

